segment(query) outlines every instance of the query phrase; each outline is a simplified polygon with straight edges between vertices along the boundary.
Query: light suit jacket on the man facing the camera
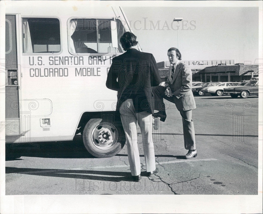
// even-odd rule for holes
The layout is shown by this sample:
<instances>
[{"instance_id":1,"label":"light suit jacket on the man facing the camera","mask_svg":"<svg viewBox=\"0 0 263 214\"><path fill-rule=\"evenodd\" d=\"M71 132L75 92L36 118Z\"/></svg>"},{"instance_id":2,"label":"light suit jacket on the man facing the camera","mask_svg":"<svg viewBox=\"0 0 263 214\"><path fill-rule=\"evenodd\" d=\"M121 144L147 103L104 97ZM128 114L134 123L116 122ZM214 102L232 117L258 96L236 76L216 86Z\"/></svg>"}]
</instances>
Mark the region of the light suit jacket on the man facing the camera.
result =
<instances>
[{"instance_id":1,"label":"light suit jacket on the man facing the camera","mask_svg":"<svg viewBox=\"0 0 263 214\"><path fill-rule=\"evenodd\" d=\"M165 87L170 86L174 93L174 103L179 111L188 111L196 108L192 92L192 71L188 65L179 62L171 79L171 68L168 71L168 79Z\"/></svg>"}]
</instances>

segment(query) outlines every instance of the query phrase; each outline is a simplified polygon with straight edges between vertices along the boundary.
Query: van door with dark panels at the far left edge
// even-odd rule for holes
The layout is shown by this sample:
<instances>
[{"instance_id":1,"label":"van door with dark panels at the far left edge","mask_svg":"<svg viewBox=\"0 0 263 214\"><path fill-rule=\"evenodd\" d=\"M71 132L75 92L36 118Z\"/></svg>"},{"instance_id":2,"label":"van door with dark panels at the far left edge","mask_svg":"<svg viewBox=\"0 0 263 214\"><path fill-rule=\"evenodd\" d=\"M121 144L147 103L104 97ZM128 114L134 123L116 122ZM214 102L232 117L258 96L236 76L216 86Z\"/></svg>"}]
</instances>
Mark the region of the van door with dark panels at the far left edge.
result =
<instances>
[{"instance_id":1,"label":"van door with dark panels at the far left edge","mask_svg":"<svg viewBox=\"0 0 263 214\"><path fill-rule=\"evenodd\" d=\"M20 135L16 15L6 15L6 135Z\"/></svg>"}]
</instances>

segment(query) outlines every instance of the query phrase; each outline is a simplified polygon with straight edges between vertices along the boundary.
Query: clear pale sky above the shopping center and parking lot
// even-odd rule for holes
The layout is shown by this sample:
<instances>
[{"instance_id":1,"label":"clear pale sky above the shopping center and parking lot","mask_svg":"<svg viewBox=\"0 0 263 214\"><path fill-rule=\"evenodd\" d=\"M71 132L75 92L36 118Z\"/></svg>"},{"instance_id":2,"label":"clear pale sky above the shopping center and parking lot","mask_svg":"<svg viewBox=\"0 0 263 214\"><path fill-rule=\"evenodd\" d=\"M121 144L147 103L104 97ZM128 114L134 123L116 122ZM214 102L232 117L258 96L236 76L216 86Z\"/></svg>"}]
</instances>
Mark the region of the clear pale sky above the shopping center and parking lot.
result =
<instances>
[{"instance_id":1,"label":"clear pale sky above the shopping center and parking lot","mask_svg":"<svg viewBox=\"0 0 263 214\"><path fill-rule=\"evenodd\" d=\"M143 52L156 62L178 47L182 60L234 59L253 64L259 53L257 7L123 7ZM176 17L183 18L173 22ZM158 26L159 23L159 26ZM184 25L184 26L183 26Z\"/></svg>"}]
</instances>

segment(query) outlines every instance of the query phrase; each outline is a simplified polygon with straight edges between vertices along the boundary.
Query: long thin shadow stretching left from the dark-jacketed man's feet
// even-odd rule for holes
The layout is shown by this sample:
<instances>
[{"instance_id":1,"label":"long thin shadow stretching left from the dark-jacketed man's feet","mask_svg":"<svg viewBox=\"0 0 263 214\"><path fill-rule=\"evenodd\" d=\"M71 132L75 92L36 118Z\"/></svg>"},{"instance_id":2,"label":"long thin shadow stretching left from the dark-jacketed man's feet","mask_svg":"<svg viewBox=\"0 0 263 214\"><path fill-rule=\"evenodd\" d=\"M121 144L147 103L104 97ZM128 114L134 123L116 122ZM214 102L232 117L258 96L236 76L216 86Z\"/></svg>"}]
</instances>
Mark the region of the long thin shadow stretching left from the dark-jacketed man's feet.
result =
<instances>
[{"instance_id":1,"label":"long thin shadow stretching left from the dark-jacketed man's feet","mask_svg":"<svg viewBox=\"0 0 263 214\"><path fill-rule=\"evenodd\" d=\"M130 172L112 172L95 170L61 170L61 169L36 169L36 168L16 168L6 167L6 174L27 174L62 178L79 178L97 181L131 181ZM91 174L91 175L87 175ZM141 172L141 176L146 176L146 171ZM114 177L112 177L114 176Z\"/></svg>"}]
</instances>

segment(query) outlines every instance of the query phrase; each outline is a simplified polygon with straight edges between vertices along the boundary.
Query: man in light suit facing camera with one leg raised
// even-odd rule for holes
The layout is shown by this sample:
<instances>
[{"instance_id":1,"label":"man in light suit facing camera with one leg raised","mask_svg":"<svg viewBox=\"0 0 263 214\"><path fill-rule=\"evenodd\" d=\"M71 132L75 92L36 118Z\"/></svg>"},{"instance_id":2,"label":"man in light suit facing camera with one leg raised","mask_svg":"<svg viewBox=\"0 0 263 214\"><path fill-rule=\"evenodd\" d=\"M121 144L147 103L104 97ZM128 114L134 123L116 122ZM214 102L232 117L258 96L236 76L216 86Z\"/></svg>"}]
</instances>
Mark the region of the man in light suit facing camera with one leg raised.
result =
<instances>
[{"instance_id":1,"label":"man in light suit facing camera with one leg raised","mask_svg":"<svg viewBox=\"0 0 263 214\"><path fill-rule=\"evenodd\" d=\"M168 50L168 59L171 66L168 71L168 79L165 87L153 87L155 110L163 115L165 120L165 105L163 98L175 103L176 108L180 112L183 120L184 146L189 150L185 155L186 159L196 157L197 151L195 147L195 130L192 120L192 109L196 108L192 88L192 71L188 65L180 62L181 53L177 48ZM163 121L164 121L163 120Z\"/></svg>"}]
</instances>

